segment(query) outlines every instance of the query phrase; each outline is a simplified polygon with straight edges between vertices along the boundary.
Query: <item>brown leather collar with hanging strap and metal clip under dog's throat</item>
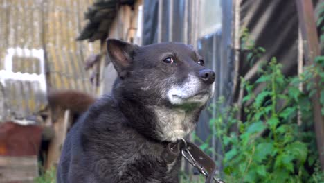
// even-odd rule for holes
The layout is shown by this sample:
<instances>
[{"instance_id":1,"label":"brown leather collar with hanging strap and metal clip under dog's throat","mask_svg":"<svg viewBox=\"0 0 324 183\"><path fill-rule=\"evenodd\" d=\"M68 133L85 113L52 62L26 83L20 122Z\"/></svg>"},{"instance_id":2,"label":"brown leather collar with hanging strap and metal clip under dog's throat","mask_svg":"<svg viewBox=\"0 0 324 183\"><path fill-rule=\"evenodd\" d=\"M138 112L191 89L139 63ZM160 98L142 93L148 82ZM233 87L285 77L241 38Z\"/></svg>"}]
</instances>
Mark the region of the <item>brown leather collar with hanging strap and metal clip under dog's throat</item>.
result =
<instances>
[{"instance_id":1,"label":"brown leather collar with hanging strap and metal clip under dog's throat","mask_svg":"<svg viewBox=\"0 0 324 183\"><path fill-rule=\"evenodd\" d=\"M185 159L198 171L206 176L206 183L215 182L224 183L220 179L214 177L216 172L216 164L204 151L202 151L195 143L181 139L174 143L168 143L163 151L163 159L168 164L174 162L179 155L183 155Z\"/></svg>"}]
</instances>

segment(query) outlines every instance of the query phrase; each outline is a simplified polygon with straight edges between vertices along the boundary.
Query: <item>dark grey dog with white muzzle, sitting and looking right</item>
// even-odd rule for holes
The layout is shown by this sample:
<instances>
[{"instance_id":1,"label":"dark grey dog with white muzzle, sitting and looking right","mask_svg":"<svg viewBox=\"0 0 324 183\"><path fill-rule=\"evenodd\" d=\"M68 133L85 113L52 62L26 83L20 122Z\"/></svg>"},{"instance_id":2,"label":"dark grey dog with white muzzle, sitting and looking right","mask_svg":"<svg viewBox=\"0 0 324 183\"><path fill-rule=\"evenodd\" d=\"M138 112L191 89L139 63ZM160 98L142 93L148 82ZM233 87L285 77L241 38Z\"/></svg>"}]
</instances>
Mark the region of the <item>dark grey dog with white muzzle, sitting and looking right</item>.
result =
<instances>
[{"instance_id":1,"label":"dark grey dog with white muzzle, sitting and looking right","mask_svg":"<svg viewBox=\"0 0 324 183\"><path fill-rule=\"evenodd\" d=\"M108 40L107 49L118 79L67 135L57 182L179 182L181 155L162 153L195 128L215 73L185 44Z\"/></svg>"}]
</instances>

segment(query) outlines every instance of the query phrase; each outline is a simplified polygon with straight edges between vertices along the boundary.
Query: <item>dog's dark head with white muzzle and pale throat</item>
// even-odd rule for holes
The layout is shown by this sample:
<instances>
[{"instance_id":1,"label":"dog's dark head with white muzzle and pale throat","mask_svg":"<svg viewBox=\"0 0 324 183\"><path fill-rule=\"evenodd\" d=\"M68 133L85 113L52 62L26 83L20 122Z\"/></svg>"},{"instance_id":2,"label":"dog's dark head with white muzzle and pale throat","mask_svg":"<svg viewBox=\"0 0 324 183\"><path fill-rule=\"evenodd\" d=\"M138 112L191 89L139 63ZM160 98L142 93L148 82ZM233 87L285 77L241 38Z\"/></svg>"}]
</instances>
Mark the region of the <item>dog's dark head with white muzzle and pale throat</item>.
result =
<instances>
[{"instance_id":1,"label":"dog's dark head with white muzzle and pale throat","mask_svg":"<svg viewBox=\"0 0 324 183\"><path fill-rule=\"evenodd\" d=\"M155 111L159 139L174 141L195 127L201 109L213 95L215 73L204 67L203 58L192 46L161 43L139 47L108 40L107 50L118 73L114 90L125 100Z\"/></svg>"}]
</instances>

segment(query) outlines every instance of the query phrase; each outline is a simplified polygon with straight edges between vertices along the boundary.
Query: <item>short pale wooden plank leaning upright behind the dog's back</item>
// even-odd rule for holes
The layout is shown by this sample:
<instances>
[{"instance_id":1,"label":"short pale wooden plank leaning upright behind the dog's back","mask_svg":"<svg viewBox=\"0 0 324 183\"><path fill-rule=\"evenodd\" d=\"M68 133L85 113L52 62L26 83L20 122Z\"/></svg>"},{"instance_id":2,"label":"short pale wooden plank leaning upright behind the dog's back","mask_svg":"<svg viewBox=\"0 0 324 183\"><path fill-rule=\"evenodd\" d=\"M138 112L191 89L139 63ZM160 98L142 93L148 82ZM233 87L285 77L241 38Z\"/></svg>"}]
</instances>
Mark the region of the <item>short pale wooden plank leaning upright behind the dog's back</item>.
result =
<instances>
[{"instance_id":1,"label":"short pale wooden plank leaning upright behind the dog's back","mask_svg":"<svg viewBox=\"0 0 324 183\"><path fill-rule=\"evenodd\" d=\"M57 166L70 120L70 110L65 110L64 112L60 112L60 116L58 117L57 121L53 123L55 137L52 139L48 147L48 157L45 166L47 170L52 166Z\"/></svg>"}]
</instances>

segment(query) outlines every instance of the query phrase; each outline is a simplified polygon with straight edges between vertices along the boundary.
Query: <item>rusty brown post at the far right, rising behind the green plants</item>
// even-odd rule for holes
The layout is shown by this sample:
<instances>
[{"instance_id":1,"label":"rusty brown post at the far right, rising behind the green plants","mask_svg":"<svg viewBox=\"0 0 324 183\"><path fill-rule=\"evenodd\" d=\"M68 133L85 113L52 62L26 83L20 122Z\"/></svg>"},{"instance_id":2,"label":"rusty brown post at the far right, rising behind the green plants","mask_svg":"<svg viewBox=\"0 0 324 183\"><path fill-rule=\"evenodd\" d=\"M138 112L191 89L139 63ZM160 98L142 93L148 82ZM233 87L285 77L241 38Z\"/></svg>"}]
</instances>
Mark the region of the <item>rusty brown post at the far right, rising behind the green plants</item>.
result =
<instances>
[{"instance_id":1,"label":"rusty brown post at the far right, rising behind the green plants","mask_svg":"<svg viewBox=\"0 0 324 183\"><path fill-rule=\"evenodd\" d=\"M320 54L318 34L316 30L314 8L312 0L296 0L299 26L305 45L305 60L307 64L314 63L315 57ZM314 126L316 133L316 143L322 170L324 170L324 118L321 114L321 103L319 98L320 87L318 86L320 78L316 77L316 93L312 98L314 106Z\"/></svg>"}]
</instances>

